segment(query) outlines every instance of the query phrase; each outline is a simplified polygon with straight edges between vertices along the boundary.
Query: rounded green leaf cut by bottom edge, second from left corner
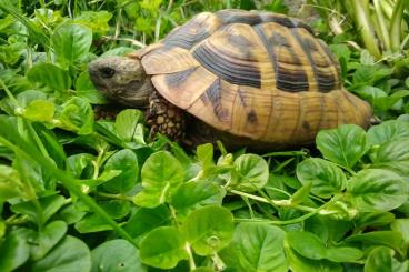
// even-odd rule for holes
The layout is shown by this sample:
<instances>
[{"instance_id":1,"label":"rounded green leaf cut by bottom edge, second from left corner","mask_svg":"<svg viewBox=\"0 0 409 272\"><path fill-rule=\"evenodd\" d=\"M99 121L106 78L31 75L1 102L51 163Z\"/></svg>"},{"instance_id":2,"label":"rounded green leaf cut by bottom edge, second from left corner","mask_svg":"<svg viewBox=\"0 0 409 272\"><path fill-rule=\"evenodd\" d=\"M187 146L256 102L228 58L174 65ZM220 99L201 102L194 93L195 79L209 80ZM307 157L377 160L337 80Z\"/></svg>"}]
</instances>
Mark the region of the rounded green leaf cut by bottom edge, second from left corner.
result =
<instances>
[{"instance_id":1,"label":"rounded green leaf cut by bottom edge, second from left corner","mask_svg":"<svg viewBox=\"0 0 409 272\"><path fill-rule=\"evenodd\" d=\"M84 242L67 235L43 259L33 263L31 271L86 272L91 269L91 254Z\"/></svg>"}]
</instances>

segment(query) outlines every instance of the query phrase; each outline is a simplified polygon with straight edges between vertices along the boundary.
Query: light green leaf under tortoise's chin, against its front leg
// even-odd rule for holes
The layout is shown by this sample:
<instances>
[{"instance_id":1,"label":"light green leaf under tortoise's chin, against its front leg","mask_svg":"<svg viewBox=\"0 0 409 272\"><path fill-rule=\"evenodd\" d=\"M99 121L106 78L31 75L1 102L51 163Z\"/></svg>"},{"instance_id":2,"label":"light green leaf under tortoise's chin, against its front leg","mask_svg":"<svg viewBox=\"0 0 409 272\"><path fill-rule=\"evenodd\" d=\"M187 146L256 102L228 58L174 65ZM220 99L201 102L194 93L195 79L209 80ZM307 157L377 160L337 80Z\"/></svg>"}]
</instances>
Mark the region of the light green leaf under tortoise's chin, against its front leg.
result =
<instances>
[{"instance_id":1,"label":"light green leaf under tortoise's chin, against its front leg","mask_svg":"<svg viewBox=\"0 0 409 272\"><path fill-rule=\"evenodd\" d=\"M128 109L121 111L116 119L116 131L126 142L144 144L143 139L143 113L140 110Z\"/></svg>"}]
</instances>

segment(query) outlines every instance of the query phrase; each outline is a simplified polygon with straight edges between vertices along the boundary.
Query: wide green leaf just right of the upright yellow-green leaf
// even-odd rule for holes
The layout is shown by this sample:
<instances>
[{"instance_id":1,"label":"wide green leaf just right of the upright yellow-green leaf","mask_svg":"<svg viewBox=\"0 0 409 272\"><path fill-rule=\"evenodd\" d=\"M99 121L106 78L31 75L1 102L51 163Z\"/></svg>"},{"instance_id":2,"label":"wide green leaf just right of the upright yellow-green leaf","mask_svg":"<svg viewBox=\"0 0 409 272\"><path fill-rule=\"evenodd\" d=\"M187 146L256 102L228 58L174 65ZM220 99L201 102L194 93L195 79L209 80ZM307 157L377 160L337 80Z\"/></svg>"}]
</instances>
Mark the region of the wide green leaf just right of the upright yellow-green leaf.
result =
<instances>
[{"instance_id":1,"label":"wide green leaf just right of the upright yellow-green leaf","mask_svg":"<svg viewBox=\"0 0 409 272\"><path fill-rule=\"evenodd\" d=\"M180 218L206 205L221 205L225 195L223 188L206 181L196 181L180 185L172 194L170 204Z\"/></svg>"}]
</instances>

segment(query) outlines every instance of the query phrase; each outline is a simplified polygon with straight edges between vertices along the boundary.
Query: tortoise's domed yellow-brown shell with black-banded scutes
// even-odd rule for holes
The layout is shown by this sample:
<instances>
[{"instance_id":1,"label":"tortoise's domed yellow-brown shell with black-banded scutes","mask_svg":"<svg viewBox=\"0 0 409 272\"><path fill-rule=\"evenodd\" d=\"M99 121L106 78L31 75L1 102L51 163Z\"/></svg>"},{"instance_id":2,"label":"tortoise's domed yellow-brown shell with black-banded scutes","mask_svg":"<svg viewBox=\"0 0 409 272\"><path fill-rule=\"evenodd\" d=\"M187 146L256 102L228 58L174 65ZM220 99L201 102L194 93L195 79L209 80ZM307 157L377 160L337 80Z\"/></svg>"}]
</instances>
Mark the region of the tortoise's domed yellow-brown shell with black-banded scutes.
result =
<instances>
[{"instance_id":1,"label":"tortoise's domed yellow-brown shell with black-banded scutes","mask_svg":"<svg viewBox=\"0 0 409 272\"><path fill-rule=\"evenodd\" d=\"M260 142L305 143L321 129L368 127L369 104L300 20L261 11L203 12L137 51L159 93L211 127Z\"/></svg>"}]
</instances>

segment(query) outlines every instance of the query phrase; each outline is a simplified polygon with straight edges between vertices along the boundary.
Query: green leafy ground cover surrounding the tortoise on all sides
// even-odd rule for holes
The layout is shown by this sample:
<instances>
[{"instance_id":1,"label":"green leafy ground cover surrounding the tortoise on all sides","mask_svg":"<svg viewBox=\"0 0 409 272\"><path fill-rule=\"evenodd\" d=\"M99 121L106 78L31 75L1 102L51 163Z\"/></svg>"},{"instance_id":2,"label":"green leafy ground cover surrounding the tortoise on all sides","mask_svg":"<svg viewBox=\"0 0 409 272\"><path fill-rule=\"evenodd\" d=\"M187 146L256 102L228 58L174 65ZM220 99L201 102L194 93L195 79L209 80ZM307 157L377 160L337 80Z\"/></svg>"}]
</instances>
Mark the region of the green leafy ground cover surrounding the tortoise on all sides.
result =
<instances>
[{"instance_id":1,"label":"green leafy ground cover surrounding the tortoise on all sides","mask_svg":"<svg viewBox=\"0 0 409 272\"><path fill-rule=\"evenodd\" d=\"M96 119L87 64L283 1L0 1L0 271L408 271L407 6L308 1L380 123L253 154L148 139L137 109Z\"/></svg>"}]
</instances>

